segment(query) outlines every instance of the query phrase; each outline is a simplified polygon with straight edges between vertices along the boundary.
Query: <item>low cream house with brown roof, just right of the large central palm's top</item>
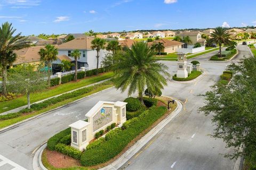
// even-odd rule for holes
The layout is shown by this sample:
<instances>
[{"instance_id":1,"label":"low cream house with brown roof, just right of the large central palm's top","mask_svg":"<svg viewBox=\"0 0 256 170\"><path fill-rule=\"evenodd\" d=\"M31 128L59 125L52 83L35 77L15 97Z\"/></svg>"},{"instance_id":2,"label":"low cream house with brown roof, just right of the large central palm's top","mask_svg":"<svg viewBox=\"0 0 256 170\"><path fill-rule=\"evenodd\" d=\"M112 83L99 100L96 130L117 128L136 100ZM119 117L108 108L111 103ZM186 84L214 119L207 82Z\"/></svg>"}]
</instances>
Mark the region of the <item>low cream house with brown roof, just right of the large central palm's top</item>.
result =
<instances>
[{"instance_id":1,"label":"low cream house with brown roof, just right of the large central palm's top","mask_svg":"<svg viewBox=\"0 0 256 170\"><path fill-rule=\"evenodd\" d=\"M175 53L177 49L183 48L184 43L179 41L169 40L169 39L158 39L153 42L148 43L149 46L153 45L154 43L163 43L164 45L164 53Z\"/></svg>"}]
</instances>

